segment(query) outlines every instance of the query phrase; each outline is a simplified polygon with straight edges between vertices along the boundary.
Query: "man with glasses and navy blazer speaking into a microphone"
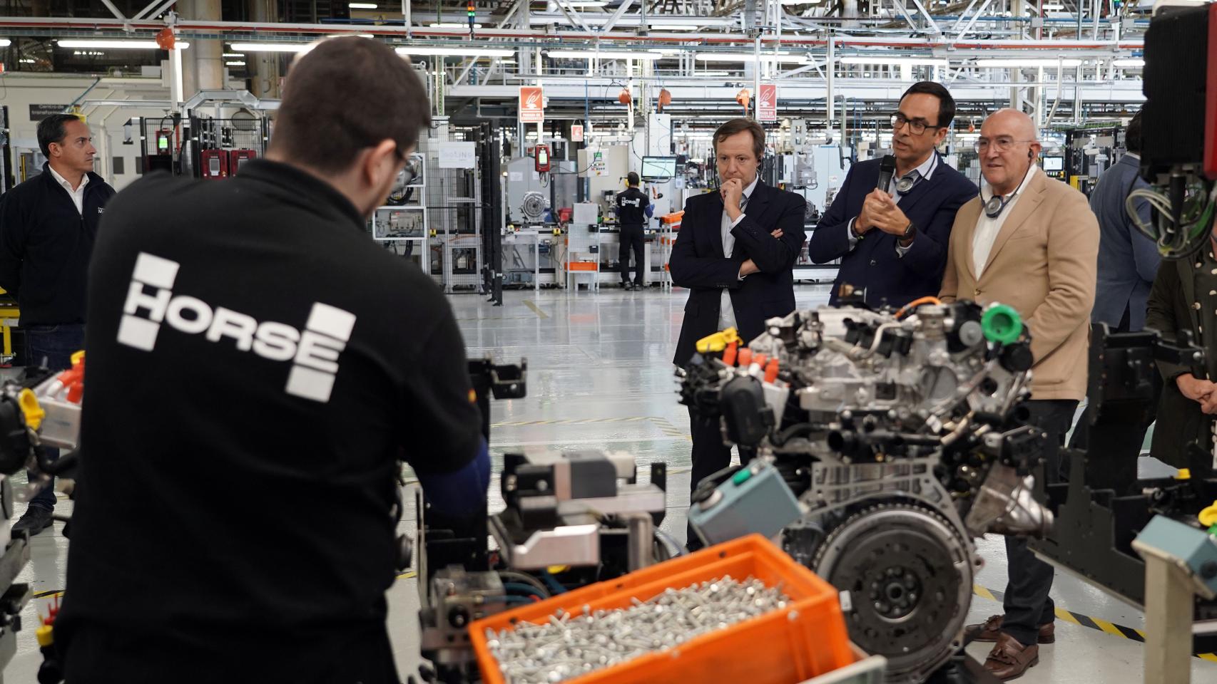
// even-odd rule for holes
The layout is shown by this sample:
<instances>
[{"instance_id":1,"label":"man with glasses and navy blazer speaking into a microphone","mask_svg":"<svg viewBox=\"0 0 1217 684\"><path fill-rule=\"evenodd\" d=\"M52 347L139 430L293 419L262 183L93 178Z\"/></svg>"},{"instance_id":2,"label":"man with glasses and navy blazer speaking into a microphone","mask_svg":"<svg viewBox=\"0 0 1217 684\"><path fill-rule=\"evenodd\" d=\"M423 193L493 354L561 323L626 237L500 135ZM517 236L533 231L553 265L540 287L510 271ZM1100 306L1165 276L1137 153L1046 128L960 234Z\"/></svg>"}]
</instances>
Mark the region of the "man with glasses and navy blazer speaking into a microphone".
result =
<instances>
[{"instance_id":1,"label":"man with glasses and navy blazer speaking into a microphone","mask_svg":"<svg viewBox=\"0 0 1217 684\"><path fill-rule=\"evenodd\" d=\"M892 114L892 194L876 188L879 159L849 168L807 245L817 264L841 259L830 304L846 283L874 307L938 294L955 211L976 197L976 186L935 151L954 117L946 87L913 84Z\"/></svg>"}]
</instances>

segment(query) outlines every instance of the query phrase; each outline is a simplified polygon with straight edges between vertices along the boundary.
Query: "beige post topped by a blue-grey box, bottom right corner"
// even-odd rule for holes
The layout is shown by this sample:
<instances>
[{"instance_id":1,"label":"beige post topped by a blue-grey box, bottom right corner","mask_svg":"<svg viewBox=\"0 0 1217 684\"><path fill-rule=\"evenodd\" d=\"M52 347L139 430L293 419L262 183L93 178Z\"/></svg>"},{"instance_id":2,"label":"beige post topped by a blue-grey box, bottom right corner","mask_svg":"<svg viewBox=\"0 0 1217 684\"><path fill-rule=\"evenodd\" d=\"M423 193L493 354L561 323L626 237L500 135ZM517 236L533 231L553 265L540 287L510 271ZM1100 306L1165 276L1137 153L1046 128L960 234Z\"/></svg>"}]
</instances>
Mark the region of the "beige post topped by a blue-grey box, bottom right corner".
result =
<instances>
[{"instance_id":1,"label":"beige post topped by a blue-grey box, bottom right corner","mask_svg":"<svg viewBox=\"0 0 1217 684\"><path fill-rule=\"evenodd\" d=\"M1145 684L1188 684L1194 597L1217 597L1217 543L1157 515L1133 549L1145 559Z\"/></svg>"}]
</instances>

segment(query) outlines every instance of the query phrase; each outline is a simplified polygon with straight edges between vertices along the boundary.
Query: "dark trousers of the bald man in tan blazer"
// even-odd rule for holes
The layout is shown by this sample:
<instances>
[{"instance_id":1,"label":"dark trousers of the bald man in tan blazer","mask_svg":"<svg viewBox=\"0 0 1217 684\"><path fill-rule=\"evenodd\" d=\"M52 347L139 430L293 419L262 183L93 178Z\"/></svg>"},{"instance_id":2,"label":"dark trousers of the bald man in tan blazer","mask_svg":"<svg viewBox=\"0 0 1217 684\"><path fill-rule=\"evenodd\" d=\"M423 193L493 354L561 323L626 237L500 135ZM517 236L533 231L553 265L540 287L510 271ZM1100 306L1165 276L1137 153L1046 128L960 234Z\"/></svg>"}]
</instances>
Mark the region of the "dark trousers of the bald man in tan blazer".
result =
<instances>
[{"instance_id":1,"label":"dark trousers of the bald man in tan blazer","mask_svg":"<svg viewBox=\"0 0 1217 684\"><path fill-rule=\"evenodd\" d=\"M1031 423L1048 433L1044 447L1044 474L1048 482L1059 481L1060 447L1069 433L1077 409L1073 400L1032 400L1026 402ZM1002 631L1020 644L1036 643L1039 626L1056 618L1056 605L1049 595L1053 588L1053 566L1036 558L1027 548L1027 539L1005 538L1006 586L1002 607L1005 617Z\"/></svg>"}]
</instances>

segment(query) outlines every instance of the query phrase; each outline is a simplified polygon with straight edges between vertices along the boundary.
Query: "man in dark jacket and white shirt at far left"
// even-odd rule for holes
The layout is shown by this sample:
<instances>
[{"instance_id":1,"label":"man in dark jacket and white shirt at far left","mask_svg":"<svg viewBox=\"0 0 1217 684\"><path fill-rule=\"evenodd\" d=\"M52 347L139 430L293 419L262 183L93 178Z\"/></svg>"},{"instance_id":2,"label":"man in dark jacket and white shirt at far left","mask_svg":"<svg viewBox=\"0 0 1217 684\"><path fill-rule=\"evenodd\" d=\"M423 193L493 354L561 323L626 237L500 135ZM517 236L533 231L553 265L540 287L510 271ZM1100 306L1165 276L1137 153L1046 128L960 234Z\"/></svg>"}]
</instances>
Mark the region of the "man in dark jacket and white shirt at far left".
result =
<instances>
[{"instance_id":1,"label":"man in dark jacket and white shirt at far left","mask_svg":"<svg viewBox=\"0 0 1217 684\"><path fill-rule=\"evenodd\" d=\"M43 173L0 199L0 287L17 298L26 332L26 366L68 368L84 349L85 277L92 243L114 188L92 173L97 149L75 114L38 124L46 156ZM58 450L47 450L51 458ZM13 530L37 535L51 526L55 490L49 484Z\"/></svg>"}]
</instances>

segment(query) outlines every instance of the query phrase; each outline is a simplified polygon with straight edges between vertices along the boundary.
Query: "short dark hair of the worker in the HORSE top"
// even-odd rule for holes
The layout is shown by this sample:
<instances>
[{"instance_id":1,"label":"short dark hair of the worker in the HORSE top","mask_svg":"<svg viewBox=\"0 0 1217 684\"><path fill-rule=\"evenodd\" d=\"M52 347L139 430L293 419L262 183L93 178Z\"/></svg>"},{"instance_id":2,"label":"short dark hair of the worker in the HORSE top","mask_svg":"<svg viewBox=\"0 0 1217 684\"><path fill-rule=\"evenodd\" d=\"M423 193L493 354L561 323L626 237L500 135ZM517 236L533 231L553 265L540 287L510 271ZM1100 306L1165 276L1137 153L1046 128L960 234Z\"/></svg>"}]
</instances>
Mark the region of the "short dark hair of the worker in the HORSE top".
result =
<instances>
[{"instance_id":1,"label":"short dark hair of the worker in the HORSE top","mask_svg":"<svg viewBox=\"0 0 1217 684\"><path fill-rule=\"evenodd\" d=\"M368 38L331 38L292 63L270 146L335 173L383 140L404 159L430 125L431 103L409 60Z\"/></svg>"}]
</instances>

